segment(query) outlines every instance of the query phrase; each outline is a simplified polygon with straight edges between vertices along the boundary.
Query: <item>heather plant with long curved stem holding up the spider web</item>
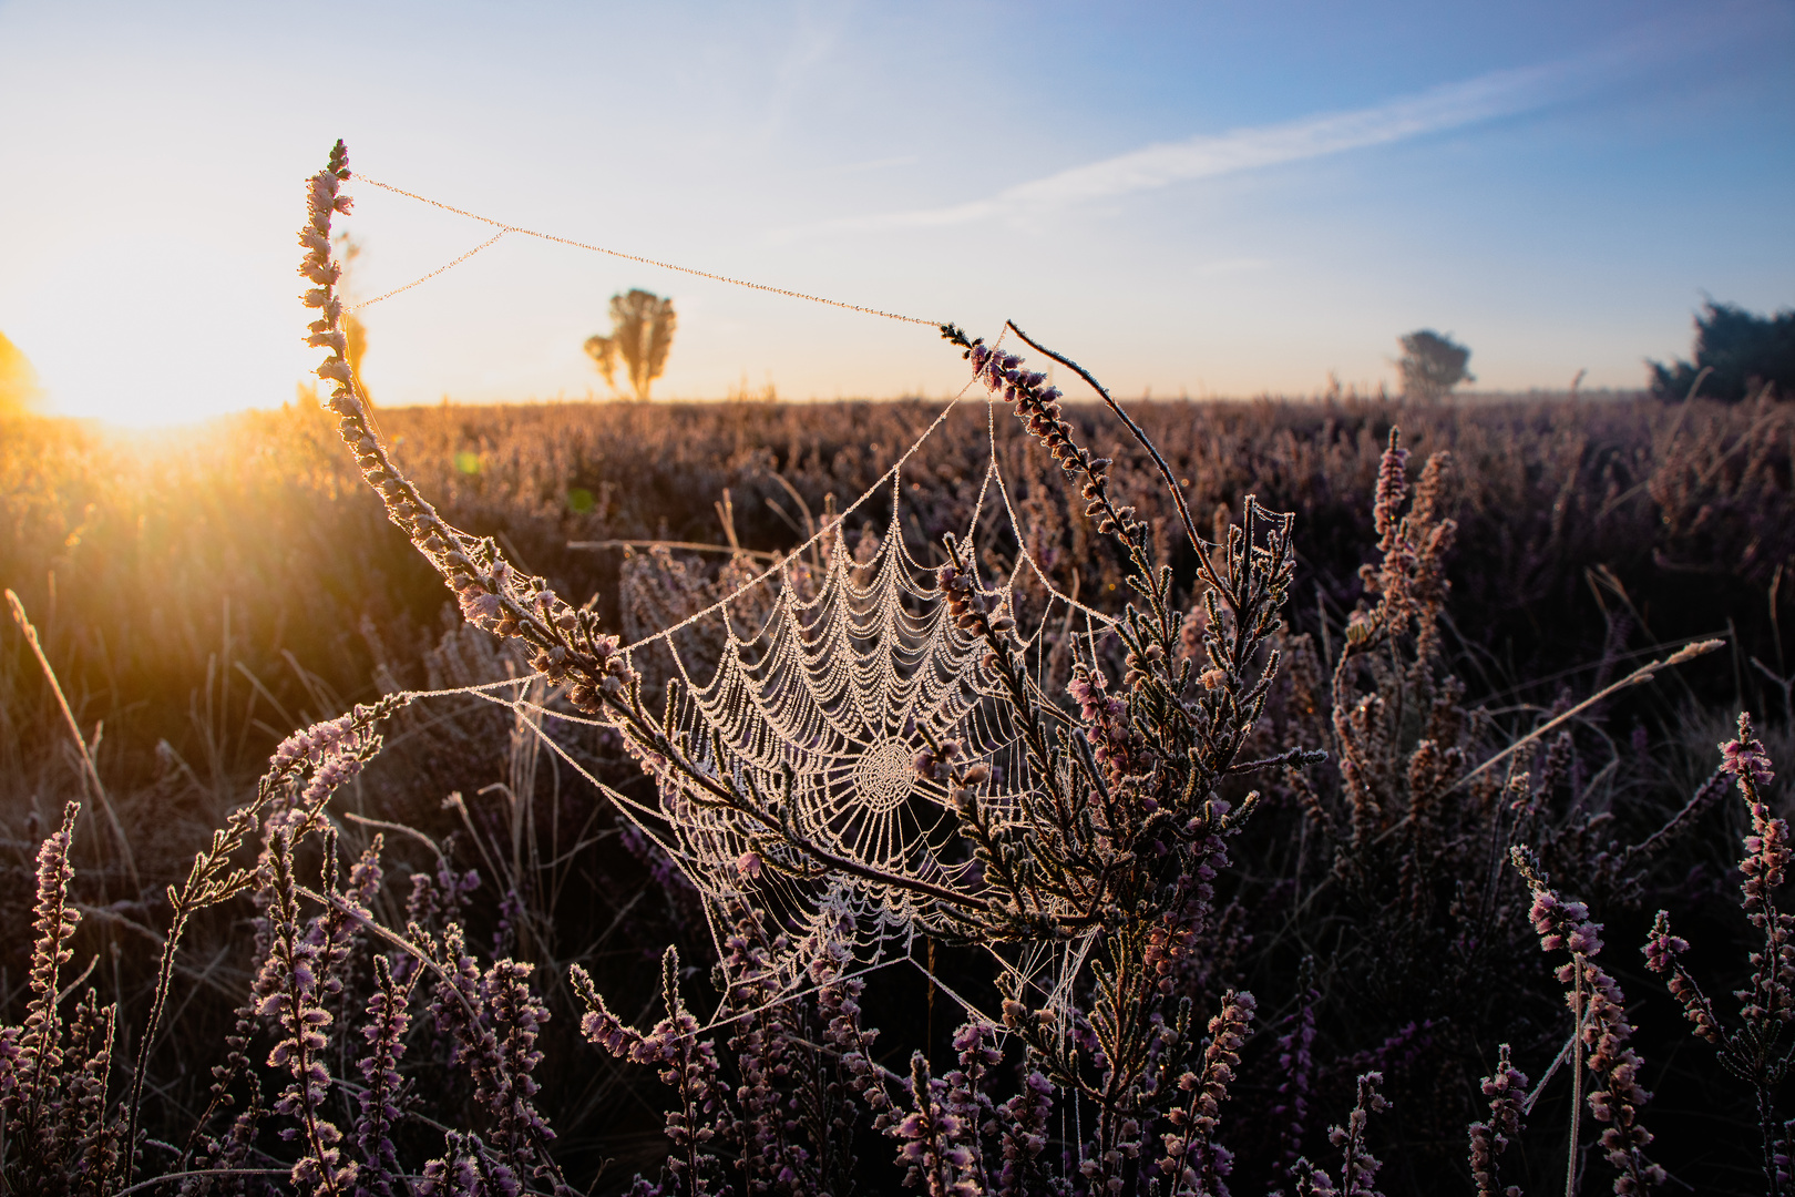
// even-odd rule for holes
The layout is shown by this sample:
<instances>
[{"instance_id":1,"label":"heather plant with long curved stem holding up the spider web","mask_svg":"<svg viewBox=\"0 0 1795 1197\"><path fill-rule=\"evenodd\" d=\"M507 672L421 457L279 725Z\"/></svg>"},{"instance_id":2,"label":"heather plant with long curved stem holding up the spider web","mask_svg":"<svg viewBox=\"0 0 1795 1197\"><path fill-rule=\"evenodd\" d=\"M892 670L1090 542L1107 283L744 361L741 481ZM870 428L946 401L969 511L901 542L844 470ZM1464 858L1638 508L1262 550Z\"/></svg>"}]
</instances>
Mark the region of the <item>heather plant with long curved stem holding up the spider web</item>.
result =
<instances>
[{"instance_id":1,"label":"heather plant with long curved stem holding up the spider web","mask_svg":"<svg viewBox=\"0 0 1795 1197\"><path fill-rule=\"evenodd\" d=\"M332 169L312 183L314 228L325 226L318 230L325 251L328 217L343 206L343 178L346 169L339 147ZM1012 402L1029 432L1068 476L1081 481L1086 515L1097 520L1099 535L1111 537L1124 551L1129 581L1147 601L1145 612L1125 608L1116 626L1127 650L1122 695L1108 693L1100 664L1081 664L1073 671L1070 693L1081 705L1082 725L1068 734L1050 723L1029 684L1007 596L985 589L976 578L975 558L953 537L944 538L948 562L937 571L937 587L948 616L959 632L975 644L982 642L982 669L998 687L998 698L1025 743L1027 763L1041 779L1041 790L1023 797L1020 824L993 822L975 797L991 768L964 761L959 741L937 741L923 732L928 747L917 756L915 770L926 781L946 782L960 836L980 865L978 883L957 890L856 861L801 833L752 781L741 781L740 766L734 772L725 766L723 741L714 732L709 754L700 756L700 745L675 739L668 721L657 721L648 712L641 675L619 651L619 641L598 632L589 612L562 603L542 580L521 576L492 542L474 544L443 524L416 486L398 474L366 420L343 357L337 330L341 303L332 294L336 267L320 248L311 249L314 257L307 260L307 273L320 285L307 303L321 310L314 345L332 352L320 368L320 375L336 384L330 407L339 415L343 436L359 454L364 476L384 497L390 517L407 529L460 592L463 614L501 637L530 644L531 666L551 682L565 684L567 700L576 709L605 716L652 775L671 781L680 800L720 809L725 818L754 827L740 861L745 876L774 869L801 879L820 879L835 872L906 892L930 903L930 917L942 930L971 942L1027 946L1070 933L1084 935L1099 953L1088 980L1081 980L1082 967L1077 965L1061 980L1073 987L1090 985L1088 1005L1077 1000L1070 1009L1061 1005L1064 998L1054 992L1059 982L1039 994L1016 980L1003 985L1005 1028L1025 1044L1029 1059L1038 1061L1050 1082L1093 1107L1095 1127L1086 1141L1075 1145L1079 1175L1099 1188L1118 1190L1138 1184L1143 1172L1158 1170L1138 1161L1165 1111L1183 1114L1170 1116L1170 1123L1190 1123L1199 1136L1172 1136L1178 1147L1169 1150L1165 1165L1172 1188L1197 1192L1195 1186L1212 1186L1215 1177L1224 1175L1226 1150L1215 1147L1210 1134L1231 1077L1239 1027L1246 1023L1253 1001L1246 994L1224 1000L1224 1012L1208 1039L1208 1052L1222 1055L1199 1064L1188 1000L1172 1003L1172 985L1149 965L1156 957L1176 955L1212 919L1208 878L1226 861L1224 838L1239 829L1256 799L1248 795L1235 813L1217 790L1222 779L1300 768L1319 759L1300 748L1265 759L1246 756L1278 671L1278 651L1262 655L1260 650L1276 630L1276 610L1294 567L1289 517L1264 517L1249 499L1242 528L1217 546L1215 560L1181 506L1169 467L1160 463L1167 483L1172 483L1183 529L1201 558L1206 585L1208 628L1201 633L1206 669L1197 669L1188 657L1178 655L1183 614L1172 598L1172 569L1154 562L1152 531L1134 517L1134 508L1115 499L1111 463L1072 440L1072 427L1061 418L1059 391L1043 386L1045 375L1025 370L1020 357L944 327L944 336L964 348L975 379ZM1016 336L1039 350L1020 330ZM1095 379L1073 363L1050 350L1041 352L1084 375L1108 400ZM1122 415L1118 407L1116 413ZM1127 422L1125 415L1122 418ZM1152 452L1138 425L1127 424ZM1224 608L1230 616L1226 628ZM729 973L729 965L723 967ZM736 967L754 973L752 958ZM740 980L752 994L750 978ZM1054 1007L1039 1007L1043 998ZM668 1003L670 1010L679 1009L677 992L668 992ZM594 1018L612 1034L609 1027L614 1019L601 1016L601 1009L594 1007ZM765 1088L761 1070L777 1039L777 1028L750 1028L731 1044L750 1095ZM686 1089L700 1084L691 1079L689 1061L675 1071L675 1080ZM950 1183L962 1188L973 1184L955 1170L966 1170L980 1152L955 1141L964 1120L939 1105L937 1084L926 1062L914 1059L912 1109L887 1129L908 1140L905 1158L914 1165L914 1179L932 1192L946 1192ZM1195 1091L1195 1105L1188 1111L1179 1104L1165 1105L1174 1089ZM757 1166L752 1161L765 1161L768 1152L777 1156L766 1138L768 1100L765 1095L745 1098L743 1122L759 1127L754 1132L759 1138L745 1147L745 1179L750 1183ZM696 1136L689 1116L677 1131L677 1138ZM1194 1149L1201 1161L1195 1172L1185 1166L1186 1149ZM696 1154L687 1154L686 1168L687 1184L698 1184L702 1168ZM786 1170L788 1165L781 1165L774 1175ZM1185 1172L1190 1172L1188 1179Z\"/></svg>"}]
</instances>

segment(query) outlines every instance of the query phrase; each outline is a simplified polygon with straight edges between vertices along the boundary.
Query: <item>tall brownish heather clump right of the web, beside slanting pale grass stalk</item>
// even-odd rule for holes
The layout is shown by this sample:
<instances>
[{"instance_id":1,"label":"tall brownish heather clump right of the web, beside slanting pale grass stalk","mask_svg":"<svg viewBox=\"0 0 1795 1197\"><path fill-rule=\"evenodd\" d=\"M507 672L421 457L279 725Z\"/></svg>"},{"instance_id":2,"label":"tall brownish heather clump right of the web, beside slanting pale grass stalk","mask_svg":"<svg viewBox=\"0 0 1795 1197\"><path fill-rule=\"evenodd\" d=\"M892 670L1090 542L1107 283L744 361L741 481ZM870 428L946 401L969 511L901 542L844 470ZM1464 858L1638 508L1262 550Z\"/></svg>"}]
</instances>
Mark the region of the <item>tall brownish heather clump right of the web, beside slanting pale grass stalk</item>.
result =
<instances>
[{"instance_id":1,"label":"tall brownish heather clump right of the web, beside slanting pale grass stalk","mask_svg":"<svg viewBox=\"0 0 1795 1197\"><path fill-rule=\"evenodd\" d=\"M1355 1066L1380 1068L1422 1097L1441 1134L1450 1120L1470 1120L1475 1082L1450 1066L1400 1066L1398 1057L1413 1061L1423 1039L1477 1050L1511 1034L1502 1019L1537 985L1524 878L1504 867L1511 852L1540 856L1598 901L1630 908L1653 863L1691 834L1720 791L1709 779L1664 822L1621 818L1628 811L1617 809L1623 791L1612 779L1623 761L1587 723L1614 695L1716 642L1648 662L1583 702L1562 696L1531 727L1502 729L1468 703L1445 619L1456 533L1447 517L1450 477L1452 461L1436 454L1411 485L1407 454L1391 431L1373 502L1379 560L1361 574L1366 599L1344 621L1327 684L1314 639L1289 639L1289 682L1278 703L1282 734L1337 759L1337 772L1292 777L1289 786L1332 847L1330 876L1309 904L1350 919L1335 940L1328 998L1348 1012L1384 1012L1384 1048ZM1603 756L1599 766L1589 761ZM1307 1034L1312 1041L1314 1030ZM1289 1046L1283 1052L1298 1059ZM1285 1084L1298 1082L1307 1075ZM1300 1141L1301 1127L1292 1123L1292 1134ZM1292 1154L1283 1149L1285 1161Z\"/></svg>"}]
</instances>

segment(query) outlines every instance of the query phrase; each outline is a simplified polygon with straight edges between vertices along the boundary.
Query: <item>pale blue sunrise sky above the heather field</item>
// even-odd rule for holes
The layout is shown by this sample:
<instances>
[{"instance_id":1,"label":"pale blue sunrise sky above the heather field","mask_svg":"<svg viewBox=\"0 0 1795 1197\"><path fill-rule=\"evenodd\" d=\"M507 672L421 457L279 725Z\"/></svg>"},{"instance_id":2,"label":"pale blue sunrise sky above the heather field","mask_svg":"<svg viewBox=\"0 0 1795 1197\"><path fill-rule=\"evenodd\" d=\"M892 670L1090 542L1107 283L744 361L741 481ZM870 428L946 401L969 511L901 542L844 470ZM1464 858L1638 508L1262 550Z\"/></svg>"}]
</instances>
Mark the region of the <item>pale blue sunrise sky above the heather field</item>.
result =
<instances>
[{"instance_id":1,"label":"pale blue sunrise sky above the heather field","mask_svg":"<svg viewBox=\"0 0 1795 1197\"><path fill-rule=\"evenodd\" d=\"M0 332L63 411L278 404L300 179L994 332L1122 393L1307 395L1418 327L1481 388L1635 386L1703 294L1795 303L1795 5L0 0ZM368 187L379 294L485 240ZM926 328L508 235L366 309L377 400L930 395Z\"/></svg>"}]
</instances>

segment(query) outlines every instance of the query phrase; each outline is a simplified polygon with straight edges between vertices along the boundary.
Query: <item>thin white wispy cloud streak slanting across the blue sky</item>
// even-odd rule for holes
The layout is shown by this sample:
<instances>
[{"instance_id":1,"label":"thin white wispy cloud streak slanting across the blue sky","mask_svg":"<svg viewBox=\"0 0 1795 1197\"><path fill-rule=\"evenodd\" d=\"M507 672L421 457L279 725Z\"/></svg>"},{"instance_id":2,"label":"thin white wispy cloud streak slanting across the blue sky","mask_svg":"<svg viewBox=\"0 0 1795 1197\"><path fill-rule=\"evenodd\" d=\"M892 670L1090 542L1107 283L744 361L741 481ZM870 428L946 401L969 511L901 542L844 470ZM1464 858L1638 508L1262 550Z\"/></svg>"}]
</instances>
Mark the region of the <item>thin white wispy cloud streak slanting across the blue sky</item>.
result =
<instances>
[{"instance_id":1,"label":"thin white wispy cloud streak slanting across the blue sky","mask_svg":"<svg viewBox=\"0 0 1795 1197\"><path fill-rule=\"evenodd\" d=\"M991 217L1027 215L1154 190L1172 183L1212 179L1352 149L1389 145L1427 133L1544 108L1576 92L1590 90L1617 70L1637 65L1642 56L1644 47L1637 41L1614 45L1558 63L1492 72L1357 111L1321 113L1221 135L1192 136L1181 142L1161 142L1020 183L984 199L942 208L851 217L833 221L829 228L937 228Z\"/></svg>"}]
</instances>

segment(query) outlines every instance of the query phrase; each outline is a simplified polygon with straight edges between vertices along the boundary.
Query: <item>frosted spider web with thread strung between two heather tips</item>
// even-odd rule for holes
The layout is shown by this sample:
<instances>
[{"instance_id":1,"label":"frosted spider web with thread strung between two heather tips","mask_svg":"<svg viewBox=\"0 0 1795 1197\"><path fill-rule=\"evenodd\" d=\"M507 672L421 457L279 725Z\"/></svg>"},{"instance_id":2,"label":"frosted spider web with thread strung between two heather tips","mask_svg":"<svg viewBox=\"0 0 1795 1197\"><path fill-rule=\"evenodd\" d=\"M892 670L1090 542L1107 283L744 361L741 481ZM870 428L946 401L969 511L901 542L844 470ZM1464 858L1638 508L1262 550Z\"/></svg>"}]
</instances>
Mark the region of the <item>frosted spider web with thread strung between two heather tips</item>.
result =
<instances>
[{"instance_id":1,"label":"frosted spider web with thread strung between two heather tips","mask_svg":"<svg viewBox=\"0 0 1795 1197\"><path fill-rule=\"evenodd\" d=\"M370 303L436 278L512 232L666 266L504 224L390 183L359 178L499 230L460 258ZM932 323L691 267L670 269L867 316ZM996 826L1021 822L1023 795L1038 791L1043 779L1034 775L1011 723L1009 705L996 689L994 677L982 666L985 646L953 625L944 598L935 590L933 571L910 555L901 531L903 468L960 406L971 386L968 382L942 407L898 461L842 510L840 519L723 599L641 637L625 651L635 668L666 678L666 732L700 768L727 770L738 788L752 781L757 793L777 795L781 806L790 808L797 831L836 856L887 878L982 899L989 894L969 845L957 834L944 782L917 773L917 754L930 739L951 739L962 747L962 761L989 765L991 775L976 786L975 800ZM1113 621L1054 587L1029 553L998 465L994 411L996 402L987 402L989 456L962 544L973 549L973 562L980 560L982 537L991 544L1014 546L1012 567L1005 578L993 580L994 589L1003 594L1016 619L1016 635L1027 648L1034 684L1043 691L1041 705L1057 711L1054 696L1046 693L1046 678L1054 671L1048 660L1050 632L1059 628L1057 641L1068 659L1082 655L1090 660L1097 637ZM872 555L862 560L842 537L845 517L867 508L887 490L890 522ZM801 581L801 571L793 567L806 553L826 560L822 578L813 585L804 585L810 580ZM1059 660L1059 666L1064 664L1064 659ZM512 691L510 696L504 691ZM657 777L653 804L607 786L546 734L542 725L560 720L616 730L621 727L542 705L531 696L528 678L429 695L456 693L512 709L521 730L533 732L538 743L585 777L652 838L704 896L720 957L722 940L729 933L722 919L731 901L745 899L772 913L784 931L784 942L792 944L783 958L772 960L784 987L774 1000L808 985L806 960L801 957L820 942L849 948L860 969L871 971L892 962L915 962L914 949L921 937L942 937L953 930L939 903L901 883L842 872L804 879L774 869L768 856L802 867L804 854L766 836L745 815L700 806L693 800L689 784L682 784L673 772ZM1070 784L1070 775L1061 777L1061 782ZM1063 1012L1066 985L1088 949L1090 935L1084 935L1003 951L993 948L991 955L1020 985L1032 991L1036 1009ZM973 1012L939 978L933 983ZM740 1016L738 1010L734 1018ZM998 1021L989 1014L985 1018Z\"/></svg>"}]
</instances>

